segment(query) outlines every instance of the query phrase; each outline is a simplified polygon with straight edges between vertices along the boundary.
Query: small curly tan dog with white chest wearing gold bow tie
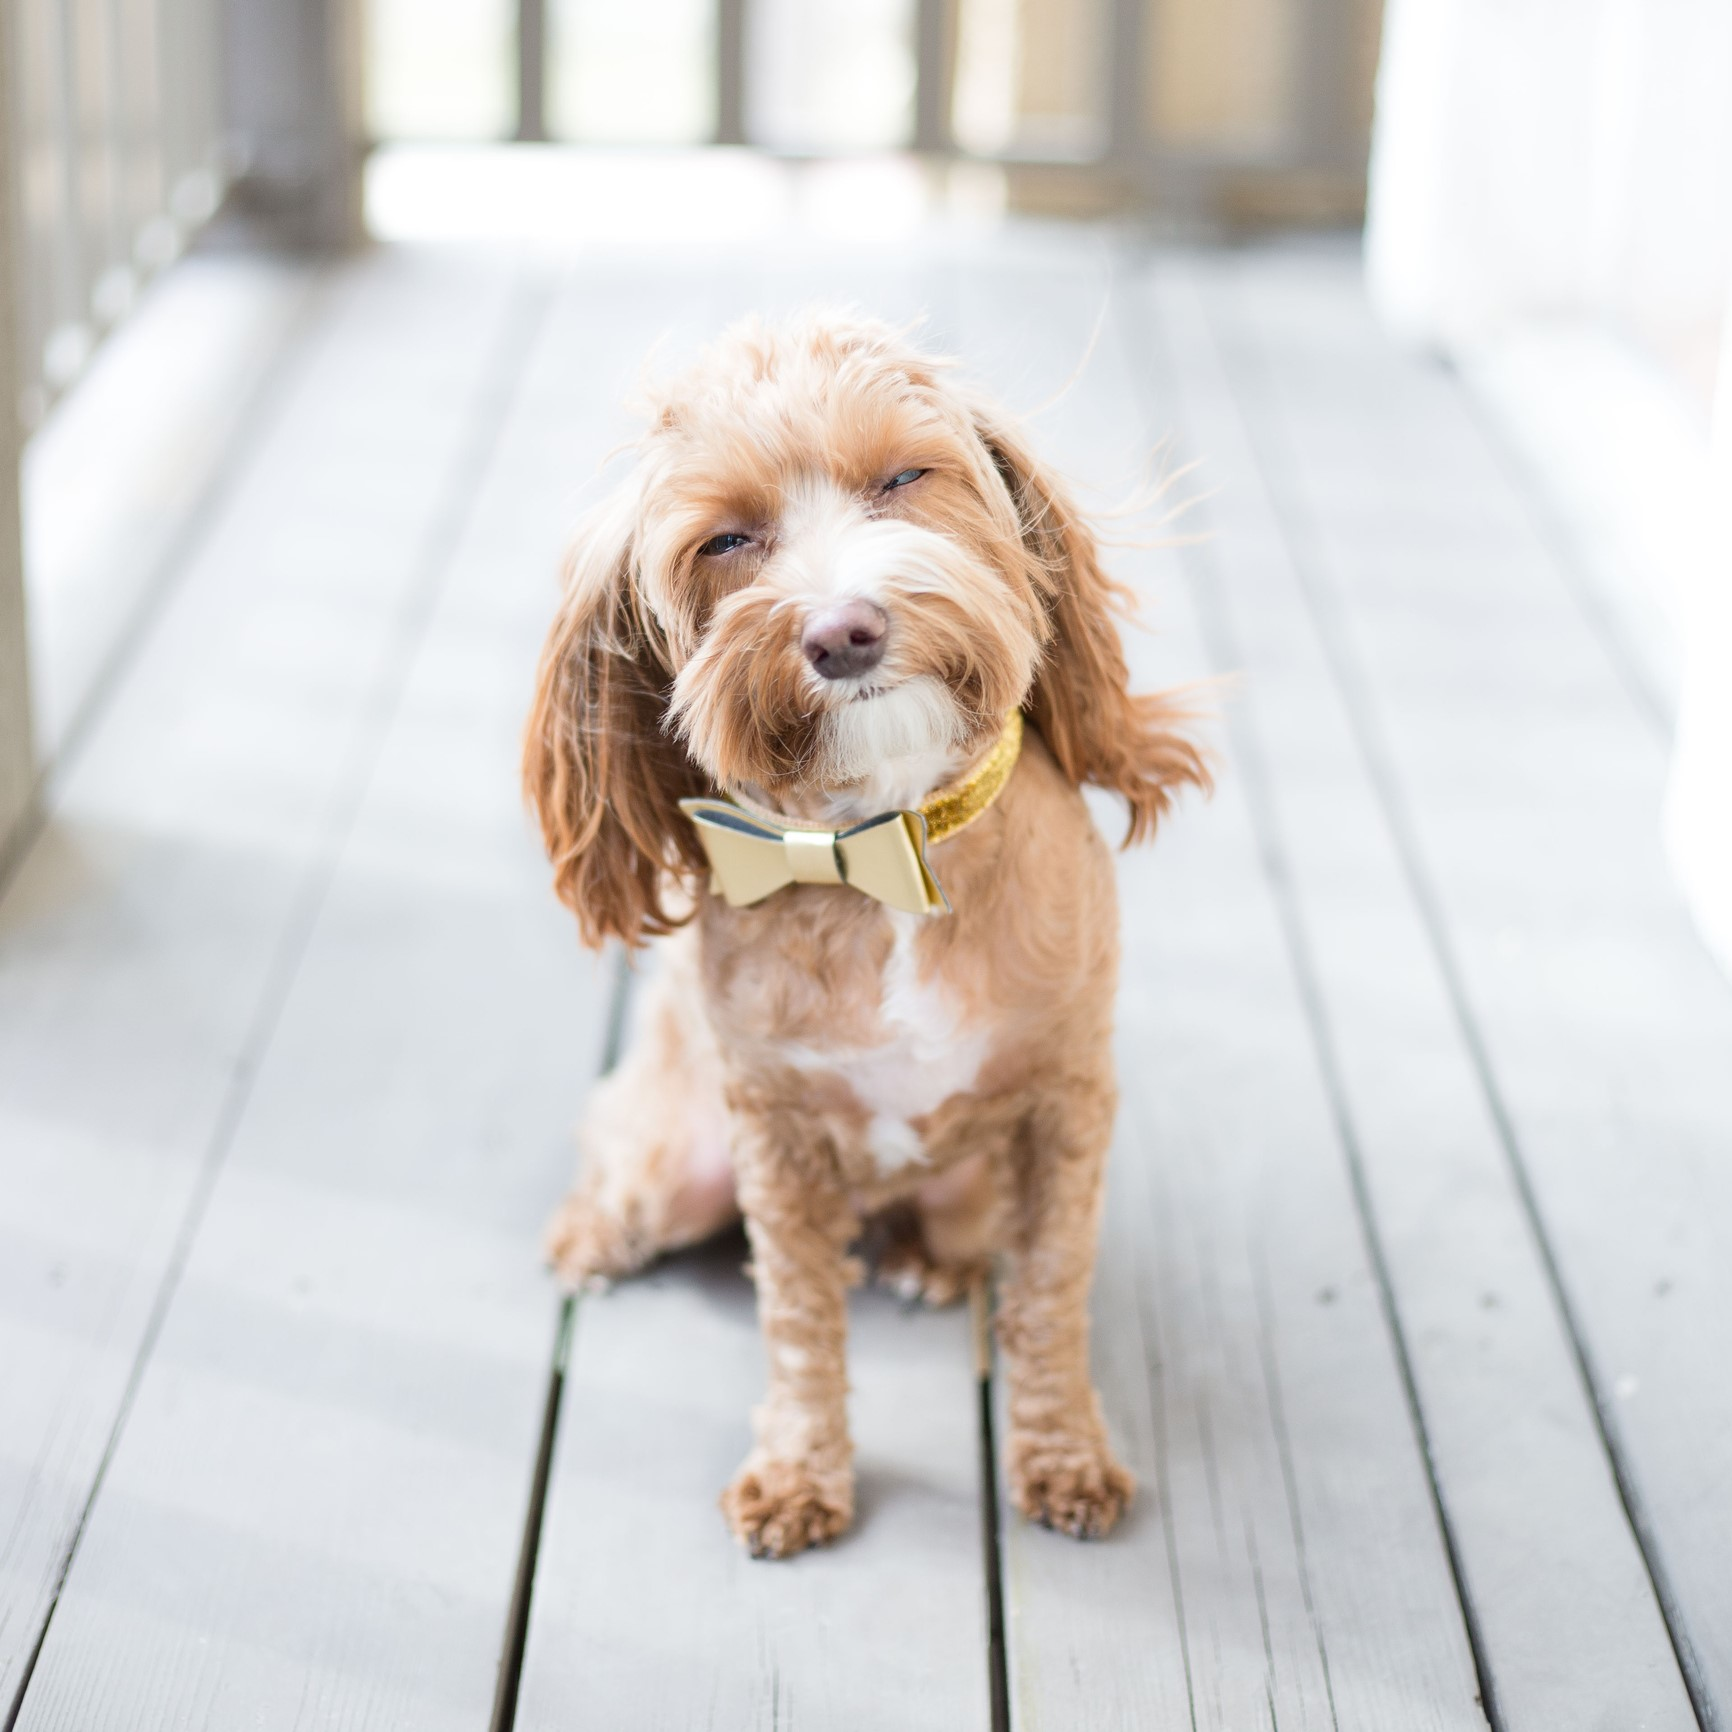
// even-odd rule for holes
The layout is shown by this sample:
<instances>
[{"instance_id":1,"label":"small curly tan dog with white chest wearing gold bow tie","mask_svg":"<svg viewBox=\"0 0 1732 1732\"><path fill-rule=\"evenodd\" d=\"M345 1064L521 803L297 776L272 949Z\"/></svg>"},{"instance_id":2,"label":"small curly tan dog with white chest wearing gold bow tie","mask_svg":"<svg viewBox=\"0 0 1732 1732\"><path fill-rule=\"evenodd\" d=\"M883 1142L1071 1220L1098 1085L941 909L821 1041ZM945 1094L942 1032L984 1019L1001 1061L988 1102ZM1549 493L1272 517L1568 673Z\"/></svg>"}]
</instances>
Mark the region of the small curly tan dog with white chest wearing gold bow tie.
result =
<instances>
[{"instance_id":1,"label":"small curly tan dog with white chest wearing gold bow tie","mask_svg":"<svg viewBox=\"0 0 1732 1732\"><path fill-rule=\"evenodd\" d=\"M746 322L653 390L582 523L525 786L585 942L665 942L549 1256L606 1283L745 1216L769 1363L722 1495L759 1557L843 1533L850 1249L932 1302L998 1268L1006 1483L1105 1535L1088 1367L1117 902L1209 772L1129 689L1129 592L1017 423L897 329Z\"/></svg>"}]
</instances>

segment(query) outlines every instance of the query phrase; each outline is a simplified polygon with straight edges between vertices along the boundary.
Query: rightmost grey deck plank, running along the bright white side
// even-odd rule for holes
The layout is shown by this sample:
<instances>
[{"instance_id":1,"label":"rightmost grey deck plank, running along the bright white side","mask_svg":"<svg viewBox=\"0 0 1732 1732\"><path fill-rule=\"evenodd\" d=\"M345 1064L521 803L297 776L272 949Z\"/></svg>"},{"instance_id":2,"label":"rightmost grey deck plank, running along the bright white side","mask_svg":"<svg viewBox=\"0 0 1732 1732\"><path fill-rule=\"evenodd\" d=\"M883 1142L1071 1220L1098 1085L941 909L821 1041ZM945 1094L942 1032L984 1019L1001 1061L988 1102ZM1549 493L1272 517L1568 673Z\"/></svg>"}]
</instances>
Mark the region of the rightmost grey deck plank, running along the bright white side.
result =
<instances>
[{"instance_id":1,"label":"rightmost grey deck plank, running along the bright white side","mask_svg":"<svg viewBox=\"0 0 1732 1732\"><path fill-rule=\"evenodd\" d=\"M1664 741L1455 383L1377 338L1346 268L1240 277L1221 341L1370 762L1399 790L1675 1638L1722 1723L1732 992L1661 856Z\"/></svg>"}]
</instances>

